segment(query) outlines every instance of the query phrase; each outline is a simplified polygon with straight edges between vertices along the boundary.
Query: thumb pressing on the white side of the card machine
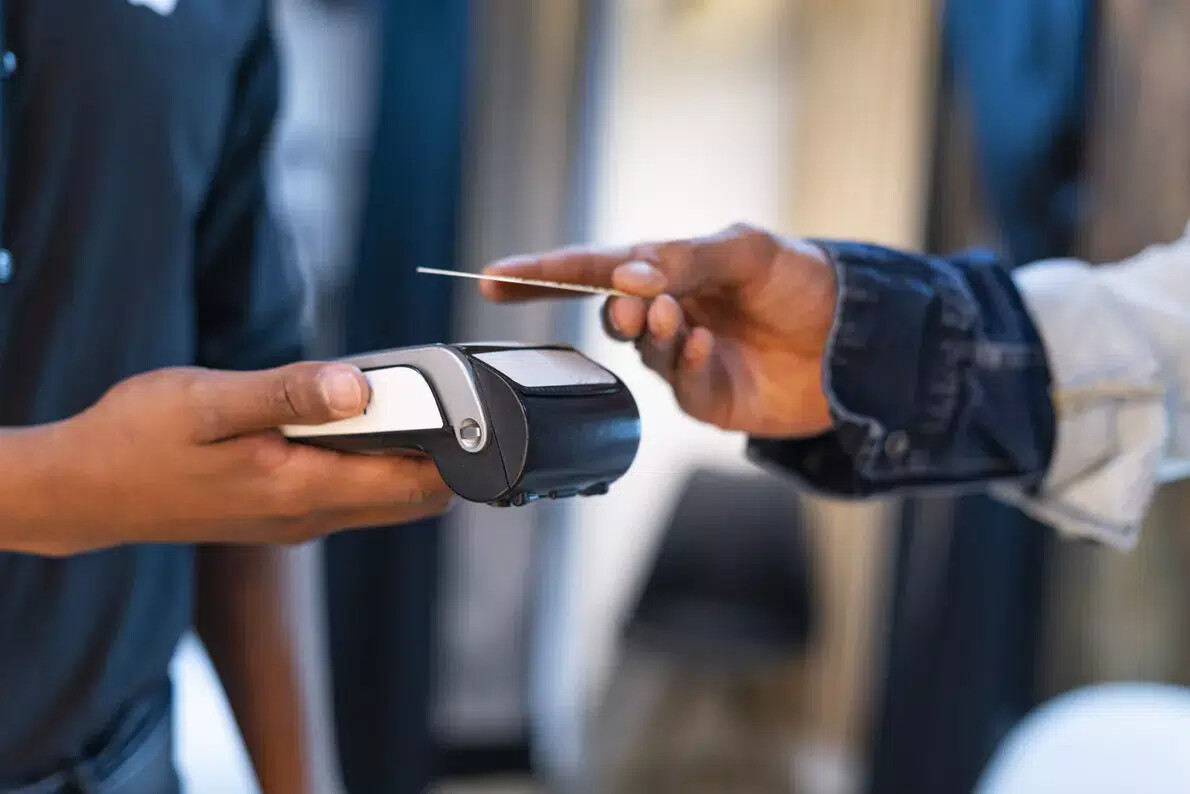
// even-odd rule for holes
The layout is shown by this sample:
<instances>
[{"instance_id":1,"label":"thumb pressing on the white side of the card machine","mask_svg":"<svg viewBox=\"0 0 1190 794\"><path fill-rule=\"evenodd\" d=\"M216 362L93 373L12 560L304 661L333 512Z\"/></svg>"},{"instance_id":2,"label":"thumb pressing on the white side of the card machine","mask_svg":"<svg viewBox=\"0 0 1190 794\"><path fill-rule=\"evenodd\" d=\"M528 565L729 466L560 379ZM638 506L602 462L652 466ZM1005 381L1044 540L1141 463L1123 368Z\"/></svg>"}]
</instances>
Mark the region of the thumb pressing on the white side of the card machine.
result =
<instances>
[{"instance_id":1,"label":"thumb pressing on the white side of the card machine","mask_svg":"<svg viewBox=\"0 0 1190 794\"><path fill-rule=\"evenodd\" d=\"M195 376L187 408L200 443L282 425L346 419L368 405L368 381L356 367L303 362L277 369Z\"/></svg>"}]
</instances>

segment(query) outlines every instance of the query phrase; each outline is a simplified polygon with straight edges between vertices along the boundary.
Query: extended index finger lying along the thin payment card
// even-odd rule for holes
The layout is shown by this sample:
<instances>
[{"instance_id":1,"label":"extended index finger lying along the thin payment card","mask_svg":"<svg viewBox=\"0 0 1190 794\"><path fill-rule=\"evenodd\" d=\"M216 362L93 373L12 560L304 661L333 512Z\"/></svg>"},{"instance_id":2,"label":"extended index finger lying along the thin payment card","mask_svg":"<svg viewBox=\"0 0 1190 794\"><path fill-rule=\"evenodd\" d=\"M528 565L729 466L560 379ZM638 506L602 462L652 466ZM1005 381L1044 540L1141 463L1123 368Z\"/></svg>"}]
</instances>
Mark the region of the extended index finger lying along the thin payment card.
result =
<instances>
[{"instance_id":1,"label":"extended index finger lying along the thin payment card","mask_svg":"<svg viewBox=\"0 0 1190 794\"><path fill-rule=\"evenodd\" d=\"M532 256L507 257L489 264L483 273L493 276L610 287L612 273L632 258L631 249L564 248ZM582 293L499 281L481 282L480 290L484 298L497 302L582 296Z\"/></svg>"}]
</instances>

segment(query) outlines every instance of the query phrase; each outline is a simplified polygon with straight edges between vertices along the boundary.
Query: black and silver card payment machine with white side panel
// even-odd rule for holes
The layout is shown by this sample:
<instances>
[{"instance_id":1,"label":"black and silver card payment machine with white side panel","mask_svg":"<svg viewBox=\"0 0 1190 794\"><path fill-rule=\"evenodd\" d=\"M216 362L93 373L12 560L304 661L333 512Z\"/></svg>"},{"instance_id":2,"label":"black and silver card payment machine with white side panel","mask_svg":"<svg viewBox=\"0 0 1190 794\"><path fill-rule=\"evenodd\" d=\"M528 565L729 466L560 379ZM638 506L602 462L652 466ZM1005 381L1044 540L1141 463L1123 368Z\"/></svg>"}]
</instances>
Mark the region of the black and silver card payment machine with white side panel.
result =
<instances>
[{"instance_id":1,"label":"black and silver card payment machine with white side panel","mask_svg":"<svg viewBox=\"0 0 1190 794\"><path fill-rule=\"evenodd\" d=\"M438 344L343 361L371 385L364 413L284 434L349 452L425 452L469 501L603 494L640 444L628 388L572 348Z\"/></svg>"}]
</instances>

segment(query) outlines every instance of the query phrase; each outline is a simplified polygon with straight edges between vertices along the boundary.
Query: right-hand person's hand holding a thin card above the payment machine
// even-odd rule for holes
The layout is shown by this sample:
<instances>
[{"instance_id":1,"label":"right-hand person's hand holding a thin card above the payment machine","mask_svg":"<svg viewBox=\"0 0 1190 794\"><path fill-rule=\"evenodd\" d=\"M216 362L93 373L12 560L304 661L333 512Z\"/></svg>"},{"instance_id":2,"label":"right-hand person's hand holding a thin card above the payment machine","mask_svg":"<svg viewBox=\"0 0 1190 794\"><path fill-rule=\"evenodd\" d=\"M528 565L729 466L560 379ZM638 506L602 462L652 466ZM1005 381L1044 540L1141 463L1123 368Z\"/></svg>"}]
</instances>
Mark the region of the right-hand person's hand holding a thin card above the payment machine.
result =
<instances>
[{"instance_id":1,"label":"right-hand person's hand holding a thin card above the payment machine","mask_svg":"<svg viewBox=\"0 0 1190 794\"><path fill-rule=\"evenodd\" d=\"M521 302L587 285L609 294L603 326L674 388L683 411L769 438L833 426L822 387L838 289L826 252L737 225L628 246L571 246L483 269L484 298Z\"/></svg>"}]
</instances>

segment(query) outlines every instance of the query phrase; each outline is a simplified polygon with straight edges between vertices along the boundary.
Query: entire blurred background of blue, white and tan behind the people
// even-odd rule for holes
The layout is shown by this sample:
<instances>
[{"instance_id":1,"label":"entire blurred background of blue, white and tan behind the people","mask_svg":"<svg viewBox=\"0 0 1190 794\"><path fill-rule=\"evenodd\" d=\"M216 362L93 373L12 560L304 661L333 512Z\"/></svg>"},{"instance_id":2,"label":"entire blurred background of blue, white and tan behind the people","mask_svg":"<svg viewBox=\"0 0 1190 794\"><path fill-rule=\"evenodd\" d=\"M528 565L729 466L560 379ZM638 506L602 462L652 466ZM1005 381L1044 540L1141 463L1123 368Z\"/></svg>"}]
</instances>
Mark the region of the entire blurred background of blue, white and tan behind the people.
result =
<instances>
[{"instance_id":1,"label":"entire blurred background of blue, white and tan behind the people","mask_svg":"<svg viewBox=\"0 0 1190 794\"><path fill-rule=\"evenodd\" d=\"M1123 256L1190 218L1190 10L277 0L275 24L318 355L566 342L644 427L606 498L294 551L328 794L1184 790L1182 690L1096 686L1190 680L1184 488L1130 555L981 496L801 496L684 419L597 301L487 306L414 268L737 220ZM196 642L175 676L190 790L255 792Z\"/></svg>"}]
</instances>

